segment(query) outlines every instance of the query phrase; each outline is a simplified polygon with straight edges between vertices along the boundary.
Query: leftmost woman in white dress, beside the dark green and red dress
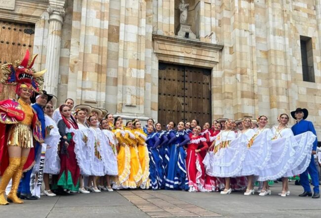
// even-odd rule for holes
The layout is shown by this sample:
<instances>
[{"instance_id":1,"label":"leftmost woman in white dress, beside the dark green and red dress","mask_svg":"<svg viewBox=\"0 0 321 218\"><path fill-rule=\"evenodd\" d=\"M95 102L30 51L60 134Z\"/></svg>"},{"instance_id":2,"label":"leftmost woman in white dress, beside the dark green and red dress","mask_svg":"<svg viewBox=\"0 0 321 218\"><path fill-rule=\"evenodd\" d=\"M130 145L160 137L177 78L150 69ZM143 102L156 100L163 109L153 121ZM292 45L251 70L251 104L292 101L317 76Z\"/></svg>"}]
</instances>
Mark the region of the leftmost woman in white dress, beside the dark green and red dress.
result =
<instances>
[{"instance_id":1,"label":"leftmost woman in white dress, beside the dark green and red dress","mask_svg":"<svg viewBox=\"0 0 321 218\"><path fill-rule=\"evenodd\" d=\"M52 119L53 106L47 103L44 106L44 122L46 125L44 143L47 145L44 156L43 182L44 194L47 196L56 196L50 190L49 174L56 175L60 172L60 158L58 155L58 146L60 143L60 134L56 122Z\"/></svg>"}]
</instances>

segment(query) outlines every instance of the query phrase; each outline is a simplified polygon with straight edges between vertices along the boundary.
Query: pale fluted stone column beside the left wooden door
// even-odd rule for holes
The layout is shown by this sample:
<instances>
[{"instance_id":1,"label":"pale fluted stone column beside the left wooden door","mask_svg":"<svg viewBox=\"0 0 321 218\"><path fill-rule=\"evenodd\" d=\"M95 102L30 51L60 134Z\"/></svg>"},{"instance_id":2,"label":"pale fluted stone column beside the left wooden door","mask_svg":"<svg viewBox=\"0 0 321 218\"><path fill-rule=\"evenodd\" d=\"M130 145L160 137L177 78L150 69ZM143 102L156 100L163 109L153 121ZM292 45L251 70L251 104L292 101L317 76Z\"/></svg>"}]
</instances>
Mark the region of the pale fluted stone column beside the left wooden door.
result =
<instances>
[{"instance_id":1,"label":"pale fluted stone column beside the left wooden door","mask_svg":"<svg viewBox=\"0 0 321 218\"><path fill-rule=\"evenodd\" d=\"M50 2L50 1L49 1ZM56 0L57 2L57 0ZM48 44L46 53L46 69L44 74L44 89L47 93L57 95L58 78L59 78L59 58L61 44L61 27L63 16L65 15L64 0L58 0L60 4L49 5L49 29Z\"/></svg>"}]
</instances>

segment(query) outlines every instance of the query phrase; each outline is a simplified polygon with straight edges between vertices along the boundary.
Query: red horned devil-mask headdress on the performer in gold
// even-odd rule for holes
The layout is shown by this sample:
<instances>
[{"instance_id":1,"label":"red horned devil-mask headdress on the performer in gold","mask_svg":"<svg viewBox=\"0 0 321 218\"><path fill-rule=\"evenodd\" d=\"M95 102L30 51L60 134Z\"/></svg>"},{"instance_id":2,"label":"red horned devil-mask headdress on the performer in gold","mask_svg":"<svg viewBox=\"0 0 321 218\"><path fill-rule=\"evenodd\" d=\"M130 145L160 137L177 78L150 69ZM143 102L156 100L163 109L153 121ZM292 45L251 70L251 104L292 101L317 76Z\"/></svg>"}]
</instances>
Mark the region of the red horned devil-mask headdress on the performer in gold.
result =
<instances>
[{"instance_id":1,"label":"red horned devil-mask headdress on the performer in gold","mask_svg":"<svg viewBox=\"0 0 321 218\"><path fill-rule=\"evenodd\" d=\"M1 66L2 78L0 80L0 92L6 95L5 98L11 97L14 95L14 92L18 93L22 84L31 87L33 91L37 93L42 93L42 75L47 70L45 69L40 72L35 72L35 69L32 67L35 63L37 55L32 58L31 64L28 66L29 57L30 53L29 50L27 50L25 57L21 62L15 61L14 64L6 63ZM3 90L4 87L7 87L5 88L6 90Z\"/></svg>"}]
</instances>

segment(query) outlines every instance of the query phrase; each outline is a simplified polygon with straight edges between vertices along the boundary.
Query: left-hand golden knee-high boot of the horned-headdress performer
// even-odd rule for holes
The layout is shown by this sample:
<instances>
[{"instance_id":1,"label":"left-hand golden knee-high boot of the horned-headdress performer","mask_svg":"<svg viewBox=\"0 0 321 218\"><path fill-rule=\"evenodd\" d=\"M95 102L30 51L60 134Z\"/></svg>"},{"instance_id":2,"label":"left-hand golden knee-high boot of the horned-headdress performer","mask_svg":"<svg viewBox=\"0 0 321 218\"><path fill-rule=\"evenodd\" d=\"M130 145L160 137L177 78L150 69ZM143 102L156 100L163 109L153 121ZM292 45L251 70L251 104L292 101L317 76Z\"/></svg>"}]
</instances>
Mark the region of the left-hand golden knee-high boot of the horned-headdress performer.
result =
<instances>
[{"instance_id":1,"label":"left-hand golden knee-high boot of the horned-headdress performer","mask_svg":"<svg viewBox=\"0 0 321 218\"><path fill-rule=\"evenodd\" d=\"M18 157L9 158L9 166L5 169L0 182L0 205L9 204L4 198L4 191L10 179L15 174L19 166L20 166L20 158Z\"/></svg>"}]
</instances>

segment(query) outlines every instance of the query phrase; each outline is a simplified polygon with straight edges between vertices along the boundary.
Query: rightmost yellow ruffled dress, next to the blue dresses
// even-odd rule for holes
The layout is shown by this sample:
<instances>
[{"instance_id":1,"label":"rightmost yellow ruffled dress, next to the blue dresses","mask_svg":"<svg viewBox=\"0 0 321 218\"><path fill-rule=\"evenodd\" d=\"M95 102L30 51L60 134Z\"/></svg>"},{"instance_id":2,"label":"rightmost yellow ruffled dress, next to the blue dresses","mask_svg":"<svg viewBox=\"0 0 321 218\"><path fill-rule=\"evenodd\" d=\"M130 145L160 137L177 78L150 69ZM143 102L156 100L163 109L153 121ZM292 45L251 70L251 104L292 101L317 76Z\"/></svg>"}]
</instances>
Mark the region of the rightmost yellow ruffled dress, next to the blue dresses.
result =
<instances>
[{"instance_id":1,"label":"rightmost yellow ruffled dress, next to the blue dresses","mask_svg":"<svg viewBox=\"0 0 321 218\"><path fill-rule=\"evenodd\" d=\"M139 162L143 171L142 179L139 181L139 187L142 189L148 189L150 186L149 180L149 155L148 148L146 144L147 135L142 129L134 129L133 133L135 134L135 138L138 142L138 156Z\"/></svg>"}]
</instances>

